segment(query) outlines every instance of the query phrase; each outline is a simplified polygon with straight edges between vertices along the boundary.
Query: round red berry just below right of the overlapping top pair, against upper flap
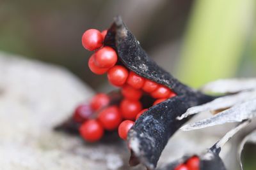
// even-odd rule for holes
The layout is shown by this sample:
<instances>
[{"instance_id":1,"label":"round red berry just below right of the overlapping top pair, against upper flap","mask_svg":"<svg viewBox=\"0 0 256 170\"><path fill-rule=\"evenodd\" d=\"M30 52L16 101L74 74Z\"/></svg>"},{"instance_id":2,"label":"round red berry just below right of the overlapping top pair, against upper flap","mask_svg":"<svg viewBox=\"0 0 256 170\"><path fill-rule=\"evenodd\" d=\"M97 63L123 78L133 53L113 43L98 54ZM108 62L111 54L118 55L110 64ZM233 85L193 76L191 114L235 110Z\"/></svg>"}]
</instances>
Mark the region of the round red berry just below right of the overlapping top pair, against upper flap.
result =
<instances>
[{"instance_id":1,"label":"round red berry just below right of the overlapping top pair, against upper flap","mask_svg":"<svg viewBox=\"0 0 256 170\"><path fill-rule=\"evenodd\" d=\"M112 85L124 85L129 72L123 66L114 66L108 71L108 80Z\"/></svg>"}]
</instances>

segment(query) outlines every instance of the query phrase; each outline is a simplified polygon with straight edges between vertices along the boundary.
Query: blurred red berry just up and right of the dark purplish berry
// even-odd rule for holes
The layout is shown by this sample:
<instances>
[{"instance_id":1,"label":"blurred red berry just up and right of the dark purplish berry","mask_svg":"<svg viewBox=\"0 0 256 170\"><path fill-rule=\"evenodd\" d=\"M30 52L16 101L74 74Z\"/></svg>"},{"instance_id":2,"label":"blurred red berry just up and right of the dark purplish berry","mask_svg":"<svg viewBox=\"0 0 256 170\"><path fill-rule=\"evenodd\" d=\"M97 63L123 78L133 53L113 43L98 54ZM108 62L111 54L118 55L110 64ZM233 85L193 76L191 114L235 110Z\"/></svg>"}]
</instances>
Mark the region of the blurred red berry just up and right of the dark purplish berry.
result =
<instances>
[{"instance_id":1,"label":"blurred red berry just up and right of the dark purplish berry","mask_svg":"<svg viewBox=\"0 0 256 170\"><path fill-rule=\"evenodd\" d=\"M97 111L103 108L104 106L108 106L109 101L110 100L108 95L99 93L92 98L90 106L93 110Z\"/></svg>"}]
</instances>

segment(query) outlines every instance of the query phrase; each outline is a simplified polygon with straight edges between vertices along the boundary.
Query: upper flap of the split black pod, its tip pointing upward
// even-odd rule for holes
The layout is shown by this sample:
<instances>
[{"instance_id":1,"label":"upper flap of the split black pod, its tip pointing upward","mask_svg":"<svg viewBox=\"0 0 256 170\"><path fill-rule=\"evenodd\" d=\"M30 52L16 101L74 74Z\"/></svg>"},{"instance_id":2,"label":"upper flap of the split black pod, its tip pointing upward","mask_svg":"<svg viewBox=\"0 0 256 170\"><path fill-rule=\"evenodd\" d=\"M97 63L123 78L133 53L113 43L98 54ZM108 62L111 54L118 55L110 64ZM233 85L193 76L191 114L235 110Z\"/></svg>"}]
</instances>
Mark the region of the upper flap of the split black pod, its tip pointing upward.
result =
<instances>
[{"instance_id":1,"label":"upper flap of the split black pod, its tip pointing upward","mask_svg":"<svg viewBox=\"0 0 256 170\"><path fill-rule=\"evenodd\" d=\"M120 17L115 18L113 25L108 30L104 45L113 47L118 53L118 59L130 71L169 87L177 95L193 91L148 57L141 48L139 41L127 29Z\"/></svg>"}]
</instances>

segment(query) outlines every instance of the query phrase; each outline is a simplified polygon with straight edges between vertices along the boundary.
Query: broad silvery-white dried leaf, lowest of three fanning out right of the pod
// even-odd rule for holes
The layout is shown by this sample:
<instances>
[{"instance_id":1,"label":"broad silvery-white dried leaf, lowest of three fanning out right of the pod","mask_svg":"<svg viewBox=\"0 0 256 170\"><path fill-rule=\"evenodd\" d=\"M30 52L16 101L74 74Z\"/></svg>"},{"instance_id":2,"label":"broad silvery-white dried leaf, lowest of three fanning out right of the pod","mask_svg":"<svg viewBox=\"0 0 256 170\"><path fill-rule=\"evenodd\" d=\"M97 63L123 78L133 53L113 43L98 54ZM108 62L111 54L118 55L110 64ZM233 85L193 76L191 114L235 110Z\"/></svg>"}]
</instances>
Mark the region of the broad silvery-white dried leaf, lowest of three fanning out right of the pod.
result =
<instances>
[{"instance_id":1,"label":"broad silvery-white dried leaf, lowest of three fanning out right of the pod","mask_svg":"<svg viewBox=\"0 0 256 170\"><path fill-rule=\"evenodd\" d=\"M250 99L244 103L236 104L231 108L221 111L218 115L211 118L205 118L198 122L184 125L180 129L182 131L191 131L194 129L202 129L213 125L225 124L228 122L242 122L246 119L252 119L256 116L256 98Z\"/></svg>"}]
</instances>

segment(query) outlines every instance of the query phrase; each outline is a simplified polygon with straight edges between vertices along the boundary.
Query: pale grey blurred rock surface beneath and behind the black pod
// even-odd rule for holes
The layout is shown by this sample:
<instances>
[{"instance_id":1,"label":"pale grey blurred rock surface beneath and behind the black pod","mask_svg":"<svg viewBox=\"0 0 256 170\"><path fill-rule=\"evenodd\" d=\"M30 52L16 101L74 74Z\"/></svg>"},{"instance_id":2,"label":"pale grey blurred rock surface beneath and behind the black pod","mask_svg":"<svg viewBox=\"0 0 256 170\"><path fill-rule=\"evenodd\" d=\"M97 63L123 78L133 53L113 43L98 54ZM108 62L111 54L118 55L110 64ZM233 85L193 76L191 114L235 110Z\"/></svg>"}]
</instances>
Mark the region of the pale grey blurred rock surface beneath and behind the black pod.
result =
<instances>
[{"instance_id":1,"label":"pale grey blurred rock surface beneath and behind the black pod","mask_svg":"<svg viewBox=\"0 0 256 170\"><path fill-rule=\"evenodd\" d=\"M90 144L52 131L92 95L92 89L66 69L0 53L0 169L144 169L128 166L129 151L121 140ZM218 128L211 134L177 132L159 166L184 153L204 152L225 134Z\"/></svg>"}]
</instances>

